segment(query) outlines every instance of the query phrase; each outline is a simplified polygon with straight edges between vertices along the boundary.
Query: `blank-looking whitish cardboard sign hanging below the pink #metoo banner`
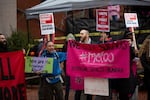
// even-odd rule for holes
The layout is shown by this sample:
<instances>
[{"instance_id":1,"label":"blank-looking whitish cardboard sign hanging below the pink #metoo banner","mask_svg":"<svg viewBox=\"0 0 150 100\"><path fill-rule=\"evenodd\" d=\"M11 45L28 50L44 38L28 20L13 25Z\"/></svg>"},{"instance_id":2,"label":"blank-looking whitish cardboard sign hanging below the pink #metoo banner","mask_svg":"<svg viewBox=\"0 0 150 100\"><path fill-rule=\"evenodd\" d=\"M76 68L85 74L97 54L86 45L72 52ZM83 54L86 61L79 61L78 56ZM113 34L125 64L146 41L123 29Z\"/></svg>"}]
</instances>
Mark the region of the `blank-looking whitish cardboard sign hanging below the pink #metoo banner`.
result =
<instances>
[{"instance_id":1,"label":"blank-looking whitish cardboard sign hanging below the pink #metoo banner","mask_svg":"<svg viewBox=\"0 0 150 100\"><path fill-rule=\"evenodd\" d=\"M109 96L108 79L89 77L84 78L84 93Z\"/></svg>"}]
</instances>

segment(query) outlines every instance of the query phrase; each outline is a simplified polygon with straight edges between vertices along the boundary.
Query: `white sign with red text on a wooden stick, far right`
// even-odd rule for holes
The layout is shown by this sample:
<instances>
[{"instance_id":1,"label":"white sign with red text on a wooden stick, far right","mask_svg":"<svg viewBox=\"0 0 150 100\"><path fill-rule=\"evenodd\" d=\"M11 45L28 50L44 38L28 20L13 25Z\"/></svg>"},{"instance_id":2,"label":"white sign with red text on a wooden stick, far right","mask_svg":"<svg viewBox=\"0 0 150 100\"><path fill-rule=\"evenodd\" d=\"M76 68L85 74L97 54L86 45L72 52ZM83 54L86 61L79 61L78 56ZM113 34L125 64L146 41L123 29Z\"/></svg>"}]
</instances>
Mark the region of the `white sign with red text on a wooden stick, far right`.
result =
<instances>
[{"instance_id":1,"label":"white sign with red text on a wooden stick, far right","mask_svg":"<svg viewBox=\"0 0 150 100\"><path fill-rule=\"evenodd\" d=\"M136 13L124 13L126 27L139 27Z\"/></svg>"}]
</instances>

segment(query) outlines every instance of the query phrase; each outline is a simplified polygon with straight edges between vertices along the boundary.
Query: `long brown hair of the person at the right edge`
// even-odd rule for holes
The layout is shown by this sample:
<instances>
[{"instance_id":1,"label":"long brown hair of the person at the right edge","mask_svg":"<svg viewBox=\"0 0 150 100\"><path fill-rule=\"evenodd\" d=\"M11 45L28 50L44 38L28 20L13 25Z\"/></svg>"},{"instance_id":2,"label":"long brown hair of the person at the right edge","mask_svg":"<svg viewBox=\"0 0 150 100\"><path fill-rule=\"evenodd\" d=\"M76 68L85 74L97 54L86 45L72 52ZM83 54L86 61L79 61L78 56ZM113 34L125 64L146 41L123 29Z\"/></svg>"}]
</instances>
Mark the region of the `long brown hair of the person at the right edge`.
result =
<instances>
[{"instance_id":1,"label":"long brown hair of the person at the right edge","mask_svg":"<svg viewBox=\"0 0 150 100\"><path fill-rule=\"evenodd\" d=\"M139 50L139 57L141 57L144 53L146 54L147 60L150 61L150 35L146 37Z\"/></svg>"}]
</instances>

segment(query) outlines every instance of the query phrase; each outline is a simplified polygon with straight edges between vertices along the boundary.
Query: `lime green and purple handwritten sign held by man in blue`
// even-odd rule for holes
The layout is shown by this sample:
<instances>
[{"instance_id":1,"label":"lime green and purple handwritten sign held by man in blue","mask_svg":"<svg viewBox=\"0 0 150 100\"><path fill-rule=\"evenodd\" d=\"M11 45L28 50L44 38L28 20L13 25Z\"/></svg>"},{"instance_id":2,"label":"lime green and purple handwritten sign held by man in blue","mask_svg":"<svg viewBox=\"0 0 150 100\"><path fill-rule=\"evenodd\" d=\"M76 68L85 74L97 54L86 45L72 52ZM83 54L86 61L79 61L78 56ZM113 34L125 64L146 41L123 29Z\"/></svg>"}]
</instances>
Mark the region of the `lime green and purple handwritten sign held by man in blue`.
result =
<instances>
[{"instance_id":1,"label":"lime green and purple handwritten sign held by man in blue","mask_svg":"<svg viewBox=\"0 0 150 100\"><path fill-rule=\"evenodd\" d=\"M25 58L25 72L53 72L53 58L46 57L26 57Z\"/></svg>"}]
</instances>

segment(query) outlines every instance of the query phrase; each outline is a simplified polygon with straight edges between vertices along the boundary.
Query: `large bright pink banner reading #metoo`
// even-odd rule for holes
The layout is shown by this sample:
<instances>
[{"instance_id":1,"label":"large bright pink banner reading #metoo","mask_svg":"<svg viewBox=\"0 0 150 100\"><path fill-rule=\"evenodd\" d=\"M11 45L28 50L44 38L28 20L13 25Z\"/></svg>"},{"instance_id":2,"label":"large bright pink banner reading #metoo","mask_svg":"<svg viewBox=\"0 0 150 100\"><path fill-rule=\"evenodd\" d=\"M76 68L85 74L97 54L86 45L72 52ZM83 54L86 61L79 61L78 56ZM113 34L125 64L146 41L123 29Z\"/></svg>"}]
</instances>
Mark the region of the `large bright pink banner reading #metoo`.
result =
<instances>
[{"instance_id":1,"label":"large bright pink banner reading #metoo","mask_svg":"<svg viewBox=\"0 0 150 100\"><path fill-rule=\"evenodd\" d=\"M129 43L106 44L68 42L67 74L71 77L128 78Z\"/></svg>"}]
</instances>

